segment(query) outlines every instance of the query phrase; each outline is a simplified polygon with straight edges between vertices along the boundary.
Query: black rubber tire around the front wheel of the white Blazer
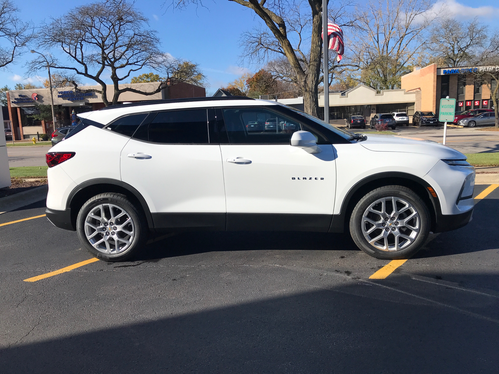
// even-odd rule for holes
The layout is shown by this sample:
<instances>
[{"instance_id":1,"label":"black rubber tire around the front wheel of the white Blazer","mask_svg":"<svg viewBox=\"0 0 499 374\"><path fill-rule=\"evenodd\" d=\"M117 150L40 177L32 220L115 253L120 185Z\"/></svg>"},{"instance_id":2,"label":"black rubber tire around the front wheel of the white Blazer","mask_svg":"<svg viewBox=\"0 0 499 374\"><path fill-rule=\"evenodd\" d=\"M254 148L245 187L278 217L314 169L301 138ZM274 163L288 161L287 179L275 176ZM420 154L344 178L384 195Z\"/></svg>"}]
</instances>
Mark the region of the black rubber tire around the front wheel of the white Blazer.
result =
<instances>
[{"instance_id":1,"label":"black rubber tire around the front wheel of the white Blazer","mask_svg":"<svg viewBox=\"0 0 499 374\"><path fill-rule=\"evenodd\" d=\"M364 217L364 213L367 211L367 208L370 207L372 204L374 204L377 200L383 199L383 198L388 198L388 197L398 197L401 199L406 200L409 204L412 204L412 207L416 210L416 212L419 214L419 219L414 218L415 221L408 221L406 222L407 225L413 224L416 226L415 222L419 222L419 232L414 235L414 241L409 242L408 245L405 242L400 242L400 239L402 240L407 240L404 239L403 237L395 237L394 234L398 233L403 233L408 236L411 235L409 231L413 231L412 229L406 227L406 226L395 226L396 222L398 222L399 216L396 213L391 212L390 215L395 214L397 215L395 221L391 220L391 217L388 218L389 220L384 222L386 218L383 219L382 215L379 215L379 218L375 220L375 222L379 221L379 224L385 224L385 228L376 228L374 231L372 231L372 235L374 237L381 235L383 230L386 230L387 228L391 227L391 230L394 230L392 233L391 230L387 231L388 236L392 236L390 238L380 238L380 240L383 240L384 246L389 247L390 246L390 241L393 239L393 243L391 244L392 246L395 245L395 240L398 240L399 245L402 246L401 249L399 250L393 250L393 251L385 251L382 249L377 248L376 246L372 245L369 243L369 241L366 239L364 236L364 233L362 232L362 219ZM397 201L399 203L399 201ZM387 209L389 210L389 206L393 206L393 203L385 203ZM408 209L409 210L409 209ZM368 213L371 214L371 213ZM405 214L403 211L400 212L400 217L403 219L403 214ZM366 252L368 255L378 258L378 259L386 259L386 260L397 260L397 259L407 259L411 256L413 256L417 251L421 249L421 247L424 245L426 242L426 239L428 237L428 234L430 232L430 227L431 227L431 218L430 218L430 212L428 210L428 207L426 203L421 199L421 197L418 196L416 192L414 192L412 189L409 189L408 187L403 187L403 186L384 186L384 187L379 187L376 188L375 190L367 193L365 196L363 196L355 205L352 214L350 216L350 234L352 235L352 239L355 241L355 244L362 249L364 252ZM369 217L368 217L369 218ZM371 218L374 220L374 218ZM417 219L417 221L416 221ZM409 223L411 222L411 223ZM365 224L365 223L364 223ZM367 222L367 224L370 224ZM372 226L371 226L372 227ZM399 228L401 228L399 230ZM367 228L369 229L369 228ZM370 239L374 239L374 237L370 237ZM374 244L378 243L380 245L379 241L375 241Z\"/></svg>"}]
</instances>

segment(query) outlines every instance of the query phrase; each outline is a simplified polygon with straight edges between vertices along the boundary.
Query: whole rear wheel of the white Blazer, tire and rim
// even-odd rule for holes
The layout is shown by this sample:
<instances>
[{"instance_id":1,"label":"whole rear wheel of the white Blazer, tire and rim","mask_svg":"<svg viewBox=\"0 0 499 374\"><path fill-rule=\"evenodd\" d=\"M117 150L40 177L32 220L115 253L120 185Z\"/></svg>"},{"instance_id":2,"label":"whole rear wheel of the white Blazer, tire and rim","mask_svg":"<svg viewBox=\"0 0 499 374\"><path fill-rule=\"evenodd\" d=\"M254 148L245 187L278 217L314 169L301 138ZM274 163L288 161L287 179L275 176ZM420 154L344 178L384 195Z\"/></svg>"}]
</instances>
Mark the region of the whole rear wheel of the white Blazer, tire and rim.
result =
<instances>
[{"instance_id":1,"label":"whole rear wheel of the white Blazer, tire and rim","mask_svg":"<svg viewBox=\"0 0 499 374\"><path fill-rule=\"evenodd\" d=\"M87 200L76 219L83 246L104 261L123 261L147 240L147 220L125 195L108 192Z\"/></svg>"}]
</instances>

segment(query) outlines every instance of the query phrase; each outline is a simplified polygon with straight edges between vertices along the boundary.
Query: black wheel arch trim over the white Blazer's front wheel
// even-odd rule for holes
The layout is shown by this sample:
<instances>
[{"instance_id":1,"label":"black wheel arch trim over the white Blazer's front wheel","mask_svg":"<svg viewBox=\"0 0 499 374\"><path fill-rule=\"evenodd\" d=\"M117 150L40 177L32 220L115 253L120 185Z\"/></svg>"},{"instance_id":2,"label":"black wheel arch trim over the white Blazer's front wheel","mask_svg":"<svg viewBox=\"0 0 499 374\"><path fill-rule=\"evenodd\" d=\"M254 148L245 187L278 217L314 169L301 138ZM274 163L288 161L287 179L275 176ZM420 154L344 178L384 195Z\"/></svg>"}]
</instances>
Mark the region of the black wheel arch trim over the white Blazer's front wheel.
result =
<instances>
[{"instance_id":1,"label":"black wheel arch trim over the white Blazer's front wheel","mask_svg":"<svg viewBox=\"0 0 499 374\"><path fill-rule=\"evenodd\" d=\"M432 215L432 225L431 225L431 230L433 232L439 232L435 231L438 227L438 220L439 217L442 216L442 208L440 205L440 200L437 197L433 197L428 190L428 187L432 187L428 182L426 182L424 179L414 176L409 173L403 173L403 172L384 172L384 173L378 173L378 174L373 174L369 177L366 177L359 182L357 182L353 187L350 188L350 190L347 192L345 195L343 201L341 202L341 208L340 208L340 213L339 214L333 214L333 218L331 221L331 227L329 228L329 232L345 232L345 219L346 219L346 214L348 210L352 210L353 206L351 206L351 201L352 197L355 196L357 192L359 192L362 187L366 186L367 184L371 182L375 182L377 180L381 179L405 179L409 181L416 182L418 185L423 187L426 190L426 195L421 196L424 200L431 201L432 206L429 206L430 210L433 208L433 212L430 212ZM408 186L410 188L410 186ZM433 187L432 187L433 188ZM435 189L433 189L435 191ZM418 192L418 191L415 191ZM367 193L367 192L366 192ZM362 196L360 196L362 197Z\"/></svg>"}]
</instances>

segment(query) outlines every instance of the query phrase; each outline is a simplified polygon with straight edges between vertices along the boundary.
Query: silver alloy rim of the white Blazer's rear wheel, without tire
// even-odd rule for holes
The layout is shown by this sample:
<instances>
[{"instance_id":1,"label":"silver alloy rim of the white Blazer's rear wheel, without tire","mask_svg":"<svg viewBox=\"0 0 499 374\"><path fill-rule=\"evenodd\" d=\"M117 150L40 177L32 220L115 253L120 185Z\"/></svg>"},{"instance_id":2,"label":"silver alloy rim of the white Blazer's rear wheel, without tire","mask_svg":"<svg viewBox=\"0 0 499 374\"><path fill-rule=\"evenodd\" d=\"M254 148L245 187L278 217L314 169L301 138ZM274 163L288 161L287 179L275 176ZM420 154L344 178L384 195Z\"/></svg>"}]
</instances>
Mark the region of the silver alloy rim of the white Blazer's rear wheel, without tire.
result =
<instances>
[{"instance_id":1,"label":"silver alloy rim of the white Blazer's rear wheel, without tire","mask_svg":"<svg viewBox=\"0 0 499 374\"><path fill-rule=\"evenodd\" d=\"M107 254L125 251L135 236L135 225L130 213L114 204L93 207L85 218L84 230L88 242Z\"/></svg>"}]
</instances>

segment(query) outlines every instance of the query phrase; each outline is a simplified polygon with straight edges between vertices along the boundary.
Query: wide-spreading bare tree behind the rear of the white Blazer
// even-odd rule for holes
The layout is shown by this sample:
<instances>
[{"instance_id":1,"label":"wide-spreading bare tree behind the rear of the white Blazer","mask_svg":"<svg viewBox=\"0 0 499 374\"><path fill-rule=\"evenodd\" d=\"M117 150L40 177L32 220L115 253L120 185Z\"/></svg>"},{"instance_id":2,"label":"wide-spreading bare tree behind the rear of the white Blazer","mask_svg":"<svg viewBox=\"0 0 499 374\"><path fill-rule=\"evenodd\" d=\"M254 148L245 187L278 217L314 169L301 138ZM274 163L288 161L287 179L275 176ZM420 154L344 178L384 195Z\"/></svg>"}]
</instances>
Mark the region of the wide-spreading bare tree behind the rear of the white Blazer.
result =
<instances>
[{"instance_id":1,"label":"wide-spreading bare tree behind the rear of the white Blazer","mask_svg":"<svg viewBox=\"0 0 499 374\"><path fill-rule=\"evenodd\" d=\"M189 81L202 75L197 65L184 63L163 53L155 30L149 29L148 19L126 0L104 0L78 6L59 18L44 24L45 30L40 45L46 49L58 48L66 57L59 62L47 56L51 68L59 69L60 75L75 89L81 89L74 75L92 79L100 90L91 90L102 95L106 106L115 105L123 92L153 95L166 85ZM29 65L28 73L46 68L42 57ZM143 68L157 71L163 80L157 87L145 92L132 87L121 87L132 74ZM113 98L107 99L106 78L113 84ZM73 78L71 77L73 75ZM199 79L198 79L199 80Z\"/></svg>"}]
</instances>

